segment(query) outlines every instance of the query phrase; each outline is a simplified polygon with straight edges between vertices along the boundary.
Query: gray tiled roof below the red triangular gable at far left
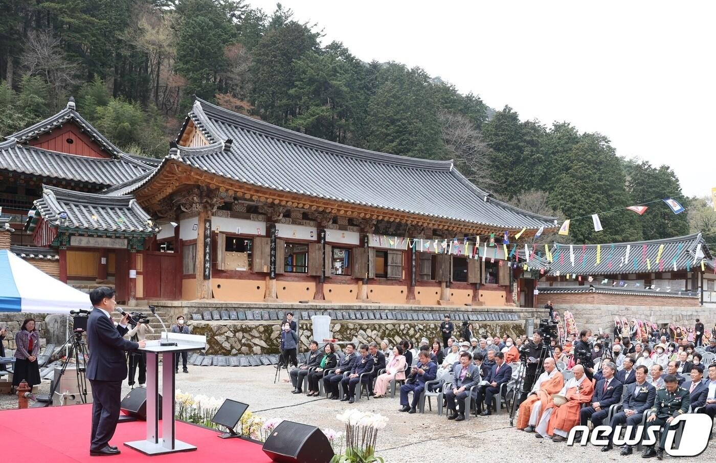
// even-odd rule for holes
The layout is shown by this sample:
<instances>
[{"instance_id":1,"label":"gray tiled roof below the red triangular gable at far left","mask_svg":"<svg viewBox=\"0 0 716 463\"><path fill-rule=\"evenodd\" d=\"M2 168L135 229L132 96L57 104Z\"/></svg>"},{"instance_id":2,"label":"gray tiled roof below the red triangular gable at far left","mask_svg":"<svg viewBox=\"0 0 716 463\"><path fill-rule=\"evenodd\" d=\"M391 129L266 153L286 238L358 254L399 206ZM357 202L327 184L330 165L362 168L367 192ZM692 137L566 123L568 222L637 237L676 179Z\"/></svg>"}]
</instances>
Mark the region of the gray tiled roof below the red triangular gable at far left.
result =
<instances>
[{"instance_id":1,"label":"gray tiled roof below the red triangular gable at far left","mask_svg":"<svg viewBox=\"0 0 716 463\"><path fill-rule=\"evenodd\" d=\"M137 178L153 167L125 154L116 158L77 156L22 145L11 138L0 143L0 170L110 186Z\"/></svg>"}]
</instances>

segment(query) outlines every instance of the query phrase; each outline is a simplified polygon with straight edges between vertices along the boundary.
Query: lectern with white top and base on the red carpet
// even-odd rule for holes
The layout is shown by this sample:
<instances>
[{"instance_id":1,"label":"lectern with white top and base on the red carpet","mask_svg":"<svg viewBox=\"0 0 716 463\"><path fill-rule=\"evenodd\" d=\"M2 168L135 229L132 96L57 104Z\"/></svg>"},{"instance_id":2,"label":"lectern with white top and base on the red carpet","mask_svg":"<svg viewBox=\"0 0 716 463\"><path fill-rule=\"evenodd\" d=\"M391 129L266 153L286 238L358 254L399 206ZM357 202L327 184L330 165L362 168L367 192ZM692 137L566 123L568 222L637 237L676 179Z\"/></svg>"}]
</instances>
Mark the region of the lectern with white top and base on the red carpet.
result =
<instances>
[{"instance_id":1,"label":"lectern with white top and base on the red carpet","mask_svg":"<svg viewBox=\"0 0 716 463\"><path fill-rule=\"evenodd\" d=\"M175 343L175 345L162 345ZM175 355L206 348L206 337L180 333L162 333L160 340L147 341L139 349L147 354L147 439L125 442L127 447L147 455L190 452L192 444L176 439L175 415ZM162 356L162 436L159 436L159 355Z\"/></svg>"}]
</instances>

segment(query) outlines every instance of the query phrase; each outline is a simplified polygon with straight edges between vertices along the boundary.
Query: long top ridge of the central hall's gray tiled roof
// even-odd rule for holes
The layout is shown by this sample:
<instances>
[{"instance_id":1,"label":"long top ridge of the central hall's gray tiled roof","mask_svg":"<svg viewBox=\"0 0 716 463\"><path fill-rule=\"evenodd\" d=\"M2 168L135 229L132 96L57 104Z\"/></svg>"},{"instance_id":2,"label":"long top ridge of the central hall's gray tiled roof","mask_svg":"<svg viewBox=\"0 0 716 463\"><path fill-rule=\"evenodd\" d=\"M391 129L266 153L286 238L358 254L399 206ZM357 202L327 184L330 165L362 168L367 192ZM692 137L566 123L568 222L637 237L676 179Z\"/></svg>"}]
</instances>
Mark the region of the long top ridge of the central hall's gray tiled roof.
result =
<instances>
[{"instance_id":1,"label":"long top ridge of the central hall's gray tiled roof","mask_svg":"<svg viewBox=\"0 0 716 463\"><path fill-rule=\"evenodd\" d=\"M214 140L226 140L226 135L216 130L216 125L211 123L211 117L222 119L227 123L235 124L247 130L262 133L273 138L279 138L296 145L305 145L310 148L325 151L328 153L350 156L353 158L365 159L378 163L389 163L398 166L410 168L421 168L432 171L450 171L453 169L453 161L435 161L432 159L411 158L410 156L399 156L397 154L380 153L378 151L370 151L363 148L355 148L354 146L342 145L322 138L317 138L305 133L296 132L287 128L281 128L263 120L251 118L247 115L234 113L233 111L221 108L205 100L197 98L193 113L198 117L200 122L212 134ZM191 114L190 114L191 115ZM210 117L211 116L211 117Z\"/></svg>"}]
</instances>

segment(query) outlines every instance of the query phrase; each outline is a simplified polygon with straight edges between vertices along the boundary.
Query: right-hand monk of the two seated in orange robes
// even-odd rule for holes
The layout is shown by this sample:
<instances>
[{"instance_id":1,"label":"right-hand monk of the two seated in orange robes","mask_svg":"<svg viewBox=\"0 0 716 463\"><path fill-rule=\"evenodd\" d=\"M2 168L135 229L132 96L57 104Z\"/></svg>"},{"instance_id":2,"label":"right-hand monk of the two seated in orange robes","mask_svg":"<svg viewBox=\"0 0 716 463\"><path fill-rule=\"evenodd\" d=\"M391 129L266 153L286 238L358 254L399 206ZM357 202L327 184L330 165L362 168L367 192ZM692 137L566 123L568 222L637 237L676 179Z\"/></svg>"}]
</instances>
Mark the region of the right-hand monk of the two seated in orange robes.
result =
<instances>
[{"instance_id":1,"label":"right-hand monk of the two seated in orange robes","mask_svg":"<svg viewBox=\"0 0 716 463\"><path fill-rule=\"evenodd\" d=\"M591 401L591 396L594 394L594 383L584 374L584 367L576 365L572 371L574 371L574 378L567 381L559 392L560 396L567 398L567 403L553 407L555 410L551 413L549 423L546 424L546 434L553 436L552 440L555 442L566 440L569 430L579 424L582 404ZM540 425L542 424L540 422ZM538 432L545 432L540 425L538 425Z\"/></svg>"}]
</instances>

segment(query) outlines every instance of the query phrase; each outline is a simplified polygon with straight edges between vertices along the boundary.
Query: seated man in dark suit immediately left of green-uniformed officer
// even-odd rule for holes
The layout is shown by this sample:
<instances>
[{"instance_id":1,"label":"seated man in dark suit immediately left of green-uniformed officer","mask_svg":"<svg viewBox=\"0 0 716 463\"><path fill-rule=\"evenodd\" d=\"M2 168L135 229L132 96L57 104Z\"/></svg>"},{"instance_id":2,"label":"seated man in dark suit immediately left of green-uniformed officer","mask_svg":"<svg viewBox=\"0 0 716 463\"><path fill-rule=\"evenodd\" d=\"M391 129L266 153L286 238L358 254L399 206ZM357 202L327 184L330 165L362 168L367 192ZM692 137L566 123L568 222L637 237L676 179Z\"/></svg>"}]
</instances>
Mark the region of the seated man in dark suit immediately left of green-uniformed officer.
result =
<instances>
[{"instance_id":1,"label":"seated man in dark suit immediately left of green-uniformed officer","mask_svg":"<svg viewBox=\"0 0 716 463\"><path fill-rule=\"evenodd\" d=\"M629 435L625 436L627 439L634 439L636 437L637 426L642 422L642 415L644 411L651 409L654 405L654 399L657 397L657 388L647 382L647 374L649 369L644 365L639 365L634 368L634 375L637 377L637 381L627 386L627 395L624 397L623 406L618 414L611 417L609 421L609 427L611 432L614 433L614 429L617 425L632 426L632 431ZM609 452L611 450L611 434L607 436L609 443L605 447L601 448L602 452ZM632 446L629 444L621 447L622 455L632 454Z\"/></svg>"}]
</instances>

